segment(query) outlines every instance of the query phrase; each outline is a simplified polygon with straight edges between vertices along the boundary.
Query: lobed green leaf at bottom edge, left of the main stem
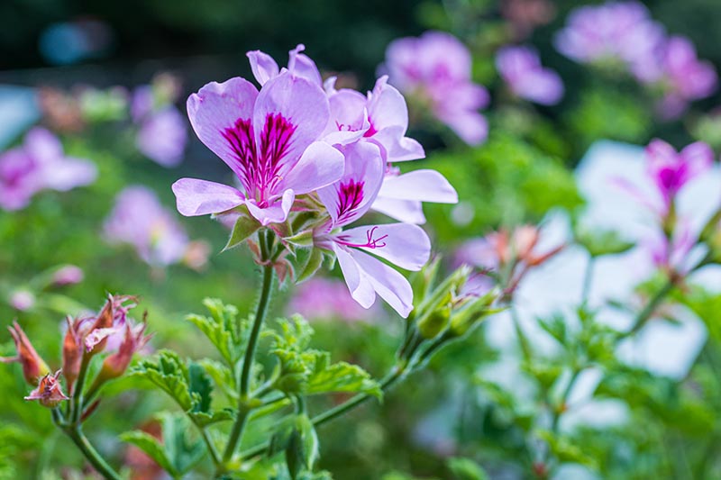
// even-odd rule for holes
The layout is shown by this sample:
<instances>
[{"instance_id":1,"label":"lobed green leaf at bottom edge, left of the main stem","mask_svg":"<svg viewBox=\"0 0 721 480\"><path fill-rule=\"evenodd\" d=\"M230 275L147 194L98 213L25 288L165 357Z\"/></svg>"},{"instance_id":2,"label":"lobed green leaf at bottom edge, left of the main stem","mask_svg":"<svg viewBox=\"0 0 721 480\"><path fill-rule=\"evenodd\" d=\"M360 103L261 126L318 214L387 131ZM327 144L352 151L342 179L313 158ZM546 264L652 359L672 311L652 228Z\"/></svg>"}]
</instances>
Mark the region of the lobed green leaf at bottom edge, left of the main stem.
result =
<instances>
[{"instance_id":1,"label":"lobed green leaf at bottom edge, left of the main stem","mask_svg":"<svg viewBox=\"0 0 721 480\"><path fill-rule=\"evenodd\" d=\"M173 478L181 478L203 458L205 448L200 439L188 439L185 417L164 414L160 421L162 441L140 430L123 433L120 439L140 448Z\"/></svg>"}]
</instances>

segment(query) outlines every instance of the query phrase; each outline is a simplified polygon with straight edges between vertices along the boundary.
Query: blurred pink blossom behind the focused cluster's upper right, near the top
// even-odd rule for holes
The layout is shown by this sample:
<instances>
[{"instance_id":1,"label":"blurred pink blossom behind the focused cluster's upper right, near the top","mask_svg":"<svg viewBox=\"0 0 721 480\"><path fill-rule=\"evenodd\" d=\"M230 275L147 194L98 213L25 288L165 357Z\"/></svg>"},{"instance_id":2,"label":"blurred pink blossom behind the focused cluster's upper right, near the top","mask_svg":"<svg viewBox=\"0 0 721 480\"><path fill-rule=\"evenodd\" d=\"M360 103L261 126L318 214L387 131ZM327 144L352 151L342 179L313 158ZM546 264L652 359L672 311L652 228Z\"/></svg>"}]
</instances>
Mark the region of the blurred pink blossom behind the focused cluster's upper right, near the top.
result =
<instances>
[{"instance_id":1,"label":"blurred pink blossom behind the focused cluster's upper right, near the top","mask_svg":"<svg viewBox=\"0 0 721 480\"><path fill-rule=\"evenodd\" d=\"M478 111L488 104L488 91L470 81L470 52L457 38L425 32L393 41L381 69L402 92L427 102L461 140L470 145L486 140L488 122Z\"/></svg>"}]
</instances>

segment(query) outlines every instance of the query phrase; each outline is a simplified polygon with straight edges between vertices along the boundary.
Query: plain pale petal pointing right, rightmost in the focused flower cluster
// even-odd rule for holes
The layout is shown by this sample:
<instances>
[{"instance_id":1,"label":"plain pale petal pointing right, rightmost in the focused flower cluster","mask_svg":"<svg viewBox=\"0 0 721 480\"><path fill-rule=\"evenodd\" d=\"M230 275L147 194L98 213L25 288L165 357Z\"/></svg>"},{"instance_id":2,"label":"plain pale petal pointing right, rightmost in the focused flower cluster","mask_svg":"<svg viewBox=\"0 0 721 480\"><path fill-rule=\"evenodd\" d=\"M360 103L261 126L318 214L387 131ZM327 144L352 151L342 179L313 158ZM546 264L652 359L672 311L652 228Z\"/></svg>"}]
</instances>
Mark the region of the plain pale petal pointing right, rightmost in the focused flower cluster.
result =
<instances>
[{"instance_id":1,"label":"plain pale petal pointing right, rightmost in the focused flower cluster","mask_svg":"<svg viewBox=\"0 0 721 480\"><path fill-rule=\"evenodd\" d=\"M385 177L378 195L437 204L458 203L458 194L448 180L439 172L427 169L415 170L397 177Z\"/></svg>"}]
</instances>

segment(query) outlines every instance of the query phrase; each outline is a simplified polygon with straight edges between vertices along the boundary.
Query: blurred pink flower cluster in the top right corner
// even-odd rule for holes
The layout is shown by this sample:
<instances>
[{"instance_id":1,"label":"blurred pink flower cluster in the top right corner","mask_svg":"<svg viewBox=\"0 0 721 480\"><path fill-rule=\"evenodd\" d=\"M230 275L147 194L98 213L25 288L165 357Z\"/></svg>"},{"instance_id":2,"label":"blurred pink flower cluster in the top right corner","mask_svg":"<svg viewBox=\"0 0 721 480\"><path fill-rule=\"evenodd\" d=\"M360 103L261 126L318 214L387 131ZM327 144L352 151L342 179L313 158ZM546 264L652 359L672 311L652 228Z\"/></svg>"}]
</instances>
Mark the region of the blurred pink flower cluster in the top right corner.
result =
<instances>
[{"instance_id":1,"label":"blurred pink flower cluster in the top right corner","mask_svg":"<svg viewBox=\"0 0 721 480\"><path fill-rule=\"evenodd\" d=\"M667 36L637 2L609 2L574 10L555 38L556 48L580 62L620 64L662 92L659 109L675 118L687 104L716 90L716 70L697 58L689 39Z\"/></svg>"}]
</instances>

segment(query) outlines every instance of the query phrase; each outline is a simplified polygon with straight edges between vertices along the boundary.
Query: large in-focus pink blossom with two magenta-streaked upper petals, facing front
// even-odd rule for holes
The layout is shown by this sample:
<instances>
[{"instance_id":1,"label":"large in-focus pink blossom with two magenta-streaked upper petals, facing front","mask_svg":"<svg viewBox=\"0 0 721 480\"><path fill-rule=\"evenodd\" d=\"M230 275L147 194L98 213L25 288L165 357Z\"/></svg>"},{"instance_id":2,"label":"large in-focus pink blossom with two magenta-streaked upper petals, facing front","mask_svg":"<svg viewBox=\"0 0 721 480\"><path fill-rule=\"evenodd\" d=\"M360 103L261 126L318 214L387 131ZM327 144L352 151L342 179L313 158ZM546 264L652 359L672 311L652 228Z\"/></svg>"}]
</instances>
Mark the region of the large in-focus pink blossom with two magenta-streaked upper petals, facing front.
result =
<instances>
[{"instance_id":1,"label":"large in-focus pink blossom with two magenta-streaked upper petals, facing front","mask_svg":"<svg viewBox=\"0 0 721 480\"><path fill-rule=\"evenodd\" d=\"M342 153L320 141L330 115L328 99L294 69L269 78L260 93L239 77L207 84L188 98L187 110L198 138L233 170L241 190L182 178L173 192L184 215L244 204L262 225L285 222L296 195L342 175Z\"/></svg>"}]
</instances>

